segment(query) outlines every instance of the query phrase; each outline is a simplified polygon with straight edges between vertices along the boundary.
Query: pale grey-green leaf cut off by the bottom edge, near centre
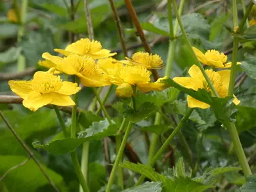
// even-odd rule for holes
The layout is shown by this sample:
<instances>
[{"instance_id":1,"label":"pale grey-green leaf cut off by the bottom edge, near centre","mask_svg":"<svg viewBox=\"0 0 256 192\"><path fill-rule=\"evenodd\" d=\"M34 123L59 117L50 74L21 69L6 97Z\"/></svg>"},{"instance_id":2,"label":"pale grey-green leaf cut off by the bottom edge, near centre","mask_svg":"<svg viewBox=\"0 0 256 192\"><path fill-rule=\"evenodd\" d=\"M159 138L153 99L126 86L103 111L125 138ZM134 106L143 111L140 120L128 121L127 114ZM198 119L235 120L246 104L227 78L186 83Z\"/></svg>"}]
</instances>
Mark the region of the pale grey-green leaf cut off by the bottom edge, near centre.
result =
<instances>
[{"instance_id":1,"label":"pale grey-green leaf cut off by the bottom edge, near centre","mask_svg":"<svg viewBox=\"0 0 256 192\"><path fill-rule=\"evenodd\" d=\"M121 192L161 192L160 182L146 182L137 187L131 187Z\"/></svg>"}]
</instances>

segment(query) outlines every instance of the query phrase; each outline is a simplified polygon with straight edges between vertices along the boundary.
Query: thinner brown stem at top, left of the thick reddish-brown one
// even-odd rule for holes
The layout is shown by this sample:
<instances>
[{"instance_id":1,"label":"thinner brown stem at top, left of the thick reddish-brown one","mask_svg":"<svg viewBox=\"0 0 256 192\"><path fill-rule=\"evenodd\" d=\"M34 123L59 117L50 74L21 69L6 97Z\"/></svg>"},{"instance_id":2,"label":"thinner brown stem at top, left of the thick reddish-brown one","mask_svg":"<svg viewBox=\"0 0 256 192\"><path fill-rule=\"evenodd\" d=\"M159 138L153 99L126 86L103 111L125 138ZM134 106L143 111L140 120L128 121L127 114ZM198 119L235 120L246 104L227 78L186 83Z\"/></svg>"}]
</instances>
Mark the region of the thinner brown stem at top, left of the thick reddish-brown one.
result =
<instances>
[{"instance_id":1,"label":"thinner brown stem at top, left of the thick reddish-brown one","mask_svg":"<svg viewBox=\"0 0 256 192\"><path fill-rule=\"evenodd\" d=\"M121 47L123 48L123 54L124 54L124 56L127 56L128 55L127 48L126 48L125 38L123 37L121 22L120 22L120 19L119 19L119 16L118 16L118 13L117 13L117 10L116 10L113 0L109 0L109 1L110 1L111 9L113 12L114 21L116 22L116 28L117 28L119 39L121 42Z\"/></svg>"}]
</instances>

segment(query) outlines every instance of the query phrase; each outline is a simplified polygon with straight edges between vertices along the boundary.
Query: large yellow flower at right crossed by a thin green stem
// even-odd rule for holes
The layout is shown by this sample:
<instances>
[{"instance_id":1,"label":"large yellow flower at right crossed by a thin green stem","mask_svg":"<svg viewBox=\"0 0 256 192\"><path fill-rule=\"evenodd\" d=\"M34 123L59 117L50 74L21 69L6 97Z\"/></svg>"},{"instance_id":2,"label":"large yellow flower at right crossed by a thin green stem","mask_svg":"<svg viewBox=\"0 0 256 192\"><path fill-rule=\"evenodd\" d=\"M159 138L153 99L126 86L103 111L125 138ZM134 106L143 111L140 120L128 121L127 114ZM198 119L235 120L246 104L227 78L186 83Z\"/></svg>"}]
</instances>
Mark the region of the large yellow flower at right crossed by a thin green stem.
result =
<instances>
[{"instance_id":1,"label":"large yellow flower at right crossed by a thin green stem","mask_svg":"<svg viewBox=\"0 0 256 192\"><path fill-rule=\"evenodd\" d=\"M213 69L206 69L205 72L207 73L209 79L213 83L217 93L221 98L228 96L228 86L229 86L229 78L230 78L230 70L223 70L223 71L213 71ZM188 74L190 77L175 77L173 81L179 83L180 85L186 88L192 88L193 90L198 90L199 88L204 88L207 91L211 91L205 78L203 77L202 72L200 71L199 67L193 65L190 67ZM213 93L211 92L213 96ZM202 109L207 109L210 107L208 104L200 102L192 96L187 97L188 100L188 107L194 108L199 107ZM234 96L233 100L234 104L238 105L240 101Z\"/></svg>"}]
</instances>

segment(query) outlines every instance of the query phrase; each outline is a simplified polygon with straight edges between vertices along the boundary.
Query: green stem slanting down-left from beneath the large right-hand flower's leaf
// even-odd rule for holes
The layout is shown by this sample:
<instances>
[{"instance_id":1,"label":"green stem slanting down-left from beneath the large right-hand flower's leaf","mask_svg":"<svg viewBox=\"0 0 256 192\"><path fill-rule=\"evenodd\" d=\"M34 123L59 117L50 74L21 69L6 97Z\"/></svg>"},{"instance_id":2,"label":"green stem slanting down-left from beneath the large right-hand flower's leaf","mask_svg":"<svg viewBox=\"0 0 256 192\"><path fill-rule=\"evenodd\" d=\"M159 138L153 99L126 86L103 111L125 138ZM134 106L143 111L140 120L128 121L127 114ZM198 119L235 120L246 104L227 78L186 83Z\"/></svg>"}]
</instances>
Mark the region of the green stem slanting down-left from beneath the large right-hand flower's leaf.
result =
<instances>
[{"instance_id":1,"label":"green stem slanting down-left from beneath the large right-hand flower's leaf","mask_svg":"<svg viewBox=\"0 0 256 192\"><path fill-rule=\"evenodd\" d=\"M156 163L156 161L158 160L158 158L163 154L163 151L165 151L165 149L167 149L168 145L171 143L171 141L173 140L174 136L180 132L182 126L184 125L184 123L188 120L188 117L190 116L190 114L192 113L194 109L188 109L188 111L186 112L186 115L181 119L181 122L179 123L179 125L175 128L175 130L173 130L173 132L171 133L171 135L169 136L169 138L167 138L167 140L165 140L165 142L163 143L163 145L160 147L160 149L158 150L158 153L156 153L156 155L154 156L154 158L152 159L152 161L150 161L150 166L152 166L154 163ZM144 180L144 176L140 176L138 182L136 183L136 185L140 185L143 180Z\"/></svg>"}]
</instances>

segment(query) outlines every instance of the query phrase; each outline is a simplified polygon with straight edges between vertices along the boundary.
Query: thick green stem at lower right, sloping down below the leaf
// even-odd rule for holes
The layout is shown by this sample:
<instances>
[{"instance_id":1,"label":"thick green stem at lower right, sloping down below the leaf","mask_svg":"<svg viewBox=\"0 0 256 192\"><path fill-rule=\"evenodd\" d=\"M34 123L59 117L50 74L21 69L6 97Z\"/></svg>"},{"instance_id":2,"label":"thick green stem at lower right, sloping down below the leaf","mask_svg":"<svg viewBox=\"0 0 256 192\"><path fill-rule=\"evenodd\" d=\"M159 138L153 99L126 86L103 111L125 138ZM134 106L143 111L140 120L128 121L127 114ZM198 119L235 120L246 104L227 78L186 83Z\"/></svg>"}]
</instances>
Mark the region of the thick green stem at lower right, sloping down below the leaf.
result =
<instances>
[{"instance_id":1,"label":"thick green stem at lower right, sloping down below the leaf","mask_svg":"<svg viewBox=\"0 0 256 192\"><path fill-rule=\"evenodd\" d=\"M240 142L238 132L236 130L236 126L234 125L234 123L230 122L230 124L228 126L228 130L230 132L230 136L231 136L232 142L234 144L234 150L236 151L236 156L238 157L240 166L242 167L242 170L244 172L244 176L247 177L247 176L251 175L251 169L249 167L249 164L247 163L247 159L244 154L244 149Z\"/></svg>"}]
</instances>

